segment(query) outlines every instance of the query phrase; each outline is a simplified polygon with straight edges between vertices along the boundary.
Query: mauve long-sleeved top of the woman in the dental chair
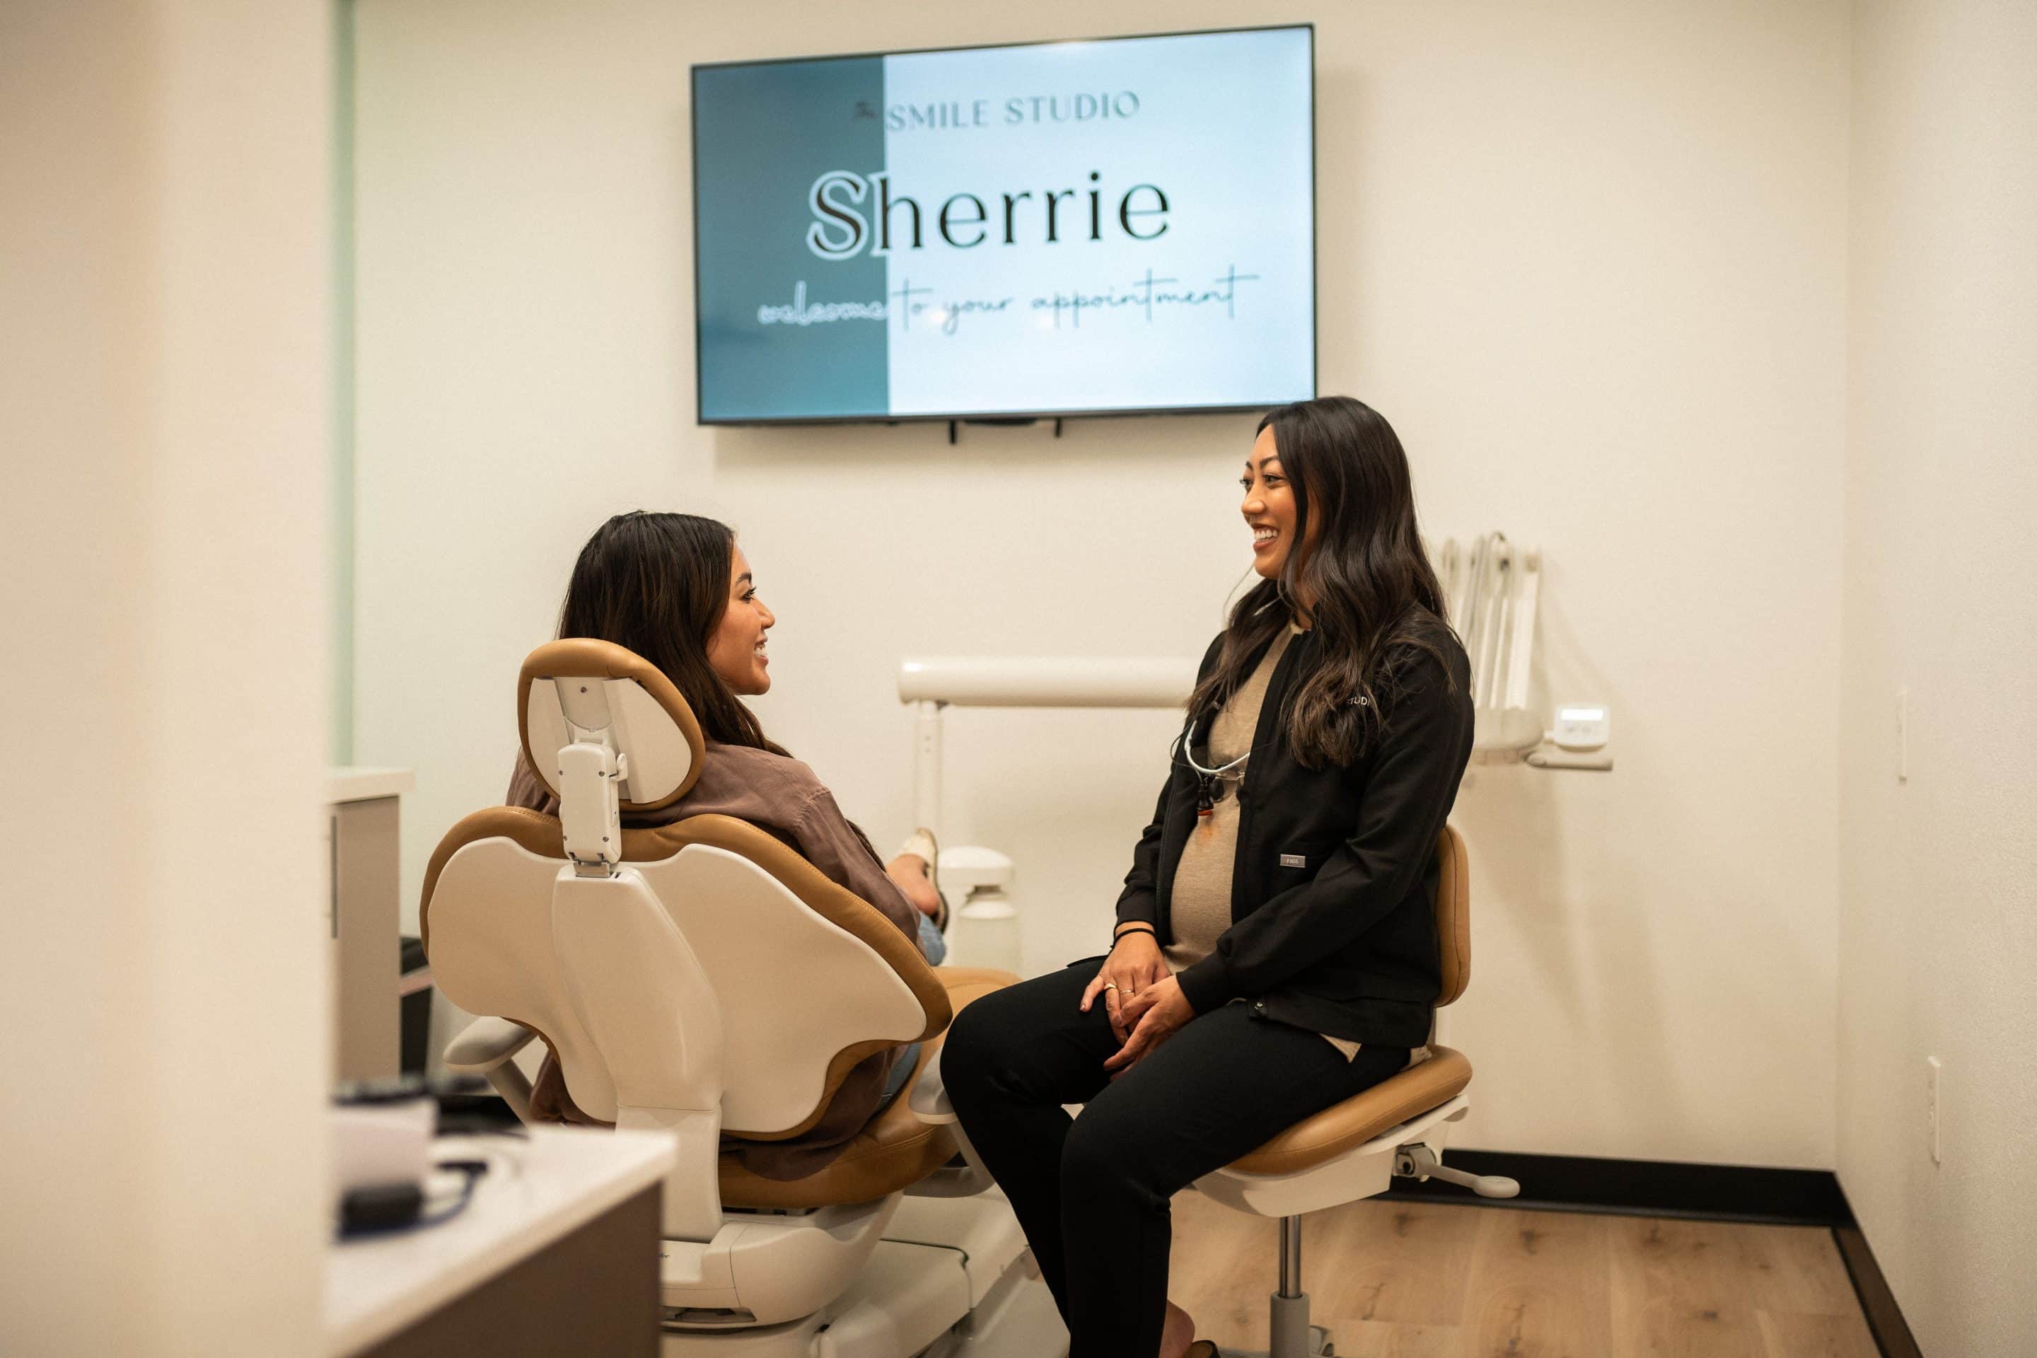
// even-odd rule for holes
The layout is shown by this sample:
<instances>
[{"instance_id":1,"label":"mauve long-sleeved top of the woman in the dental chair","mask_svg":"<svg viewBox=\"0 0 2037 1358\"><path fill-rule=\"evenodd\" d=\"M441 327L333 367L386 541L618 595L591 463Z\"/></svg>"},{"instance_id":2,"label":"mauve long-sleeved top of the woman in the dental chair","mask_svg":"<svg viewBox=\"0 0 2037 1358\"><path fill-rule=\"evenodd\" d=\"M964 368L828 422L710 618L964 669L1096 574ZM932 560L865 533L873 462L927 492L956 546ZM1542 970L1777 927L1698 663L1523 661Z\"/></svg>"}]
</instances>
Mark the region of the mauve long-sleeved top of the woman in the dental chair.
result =
<instances>
[{"instance_id":1,"label":"mauve long-sleeved top of the woman in the dental chair","mask_svg":"<svg viewBox=\"0 0 2037 1358\"><path fill-rule=\"evenodd\" d=\"M558 798L538 780L521 753L509 778L507 802L548 816L558 814ZM686 816L733 816L776 835L831 882L882 910L919 947L919 912L913 902L884 873L870 839L835 806L835 794L799 759L709 741L701 778L686 796L658 810L625 810L623 825L644 829ZM764 1179L805 1179L819 1173L876 1112L896 1059L894 1046L856 1065L827 1112L807 1132L774 1142L729 1140L725 1148L741 1158L744 1169ZM538 1073L530 1112L550 1122L595 1122L572 1106L552 1053L546 1053L544 1069Z\"/></svg>"}]
</instances>

